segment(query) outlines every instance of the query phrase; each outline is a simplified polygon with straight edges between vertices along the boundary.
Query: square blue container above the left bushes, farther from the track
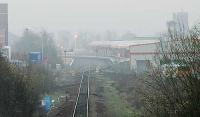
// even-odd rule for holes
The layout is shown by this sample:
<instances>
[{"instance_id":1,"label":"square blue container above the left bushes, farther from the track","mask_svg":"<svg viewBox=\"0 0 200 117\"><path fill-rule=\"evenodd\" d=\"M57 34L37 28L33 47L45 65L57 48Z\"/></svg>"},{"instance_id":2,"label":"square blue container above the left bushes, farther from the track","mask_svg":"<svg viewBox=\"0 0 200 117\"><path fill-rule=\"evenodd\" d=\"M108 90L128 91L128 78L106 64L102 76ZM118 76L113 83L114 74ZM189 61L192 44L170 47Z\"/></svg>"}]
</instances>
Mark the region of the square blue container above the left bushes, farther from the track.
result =
<instances>
[{"instance_id":1,"label":"square blue container above the left bushes, farther from the track","mask_svg":"<svg viewBox=\"0 0 200 117\"><path fill-rule=\"evenodd\" d=\"M41 52L30 52L29 59L33 63L41 63L42 62L42 54L41 54Z\"/></svg>"}]
</instances>

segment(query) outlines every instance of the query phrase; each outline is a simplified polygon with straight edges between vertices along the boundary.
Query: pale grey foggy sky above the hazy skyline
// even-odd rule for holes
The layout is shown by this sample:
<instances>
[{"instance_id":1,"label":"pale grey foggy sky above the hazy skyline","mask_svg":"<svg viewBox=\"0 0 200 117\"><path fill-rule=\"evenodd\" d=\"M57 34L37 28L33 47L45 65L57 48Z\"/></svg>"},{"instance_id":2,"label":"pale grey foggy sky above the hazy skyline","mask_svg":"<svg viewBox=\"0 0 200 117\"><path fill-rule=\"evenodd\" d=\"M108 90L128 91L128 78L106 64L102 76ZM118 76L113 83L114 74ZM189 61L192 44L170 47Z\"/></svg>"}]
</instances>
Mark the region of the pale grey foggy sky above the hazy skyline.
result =
<instances>
[{"instance_id":1,"label":"pale grey foggy sky above the hazy skyline","mask_svg":"<svg viewBox=\"0 0 200 117\"><path fill-rule=\"evenodd\" d=\"M166 29L172 13L200 21L200 0L0 0L9 4L9 31L30 27L48 31L132 31L154 35Z\"/></svg>"}]
</instances>

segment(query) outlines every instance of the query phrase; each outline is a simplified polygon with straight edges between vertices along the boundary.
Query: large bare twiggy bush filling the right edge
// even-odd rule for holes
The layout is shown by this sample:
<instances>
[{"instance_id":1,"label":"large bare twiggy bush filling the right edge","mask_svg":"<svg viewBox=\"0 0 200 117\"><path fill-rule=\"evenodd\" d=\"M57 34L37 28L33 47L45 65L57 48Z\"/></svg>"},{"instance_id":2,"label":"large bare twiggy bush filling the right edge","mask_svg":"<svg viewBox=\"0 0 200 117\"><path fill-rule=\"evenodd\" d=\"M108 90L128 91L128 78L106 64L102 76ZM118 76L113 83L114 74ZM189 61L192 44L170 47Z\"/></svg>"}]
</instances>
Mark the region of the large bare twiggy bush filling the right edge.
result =
<instances>
[{"instance_id":1,"label":"large bare twiggy bush filling the right edge","mask_svg":"<svg viewBox=\"0 0 200 117\"><path fill-rule=\"evenodd\" d=\"M168 40L160 43L157 60L162 64L143 79L139 89L144 116L199 116L199 37L195 26L188 34L170 32ZM168 66L167 72L163 64Z\"/></svg>"}]
</instances>

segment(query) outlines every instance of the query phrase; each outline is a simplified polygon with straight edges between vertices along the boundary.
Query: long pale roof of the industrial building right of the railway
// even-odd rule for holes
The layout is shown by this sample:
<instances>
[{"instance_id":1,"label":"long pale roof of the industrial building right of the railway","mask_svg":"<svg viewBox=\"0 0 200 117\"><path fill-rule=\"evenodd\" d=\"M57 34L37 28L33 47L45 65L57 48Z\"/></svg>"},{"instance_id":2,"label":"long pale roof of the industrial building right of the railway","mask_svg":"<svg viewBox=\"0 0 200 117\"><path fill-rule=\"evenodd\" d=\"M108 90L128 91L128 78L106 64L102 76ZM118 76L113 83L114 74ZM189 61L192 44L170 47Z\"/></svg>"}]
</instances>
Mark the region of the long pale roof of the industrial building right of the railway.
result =
<instances>
[{"instance_id":1,"label":"long pale roof of the industrial building right of the railway","mask_svg":"<svg viewBox=\"0 0 200 117\"><path fill-rule=\"evenodd\" d=\"M133 41L93 41L89 44L91 47L105 47L105 48L124 48L128 49L130 46L157 43L159 40L133 40Z\"/></svg>"}]
</instances>

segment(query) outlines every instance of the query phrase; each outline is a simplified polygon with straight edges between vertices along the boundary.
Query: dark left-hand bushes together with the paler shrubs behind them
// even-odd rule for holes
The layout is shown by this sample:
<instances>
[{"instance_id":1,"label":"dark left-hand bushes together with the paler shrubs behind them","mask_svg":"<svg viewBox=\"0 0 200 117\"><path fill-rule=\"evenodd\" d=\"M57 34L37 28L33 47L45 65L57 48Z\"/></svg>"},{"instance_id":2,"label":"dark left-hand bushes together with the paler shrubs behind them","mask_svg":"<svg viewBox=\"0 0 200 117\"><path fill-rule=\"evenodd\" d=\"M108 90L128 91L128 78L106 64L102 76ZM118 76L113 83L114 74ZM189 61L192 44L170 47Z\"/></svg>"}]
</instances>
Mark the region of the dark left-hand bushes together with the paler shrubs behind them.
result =
<instances>
[{"instance_id":1,"label":"dark left-hand bushes together with the paler shrubs behind them","mask_svg":"<svg viewBox=\"0 0 200 117\"><path fill-rule=\"evenodd\" d=\"M0 56L0 116L43 116L40 100L54 91L55 75L41 64L26 69L22 72Z\"/></svg>"}]
</instances>

